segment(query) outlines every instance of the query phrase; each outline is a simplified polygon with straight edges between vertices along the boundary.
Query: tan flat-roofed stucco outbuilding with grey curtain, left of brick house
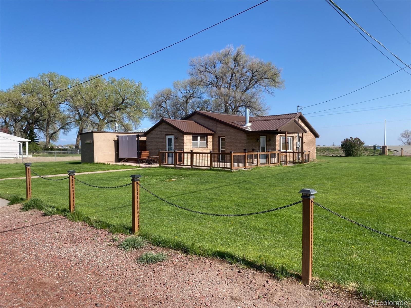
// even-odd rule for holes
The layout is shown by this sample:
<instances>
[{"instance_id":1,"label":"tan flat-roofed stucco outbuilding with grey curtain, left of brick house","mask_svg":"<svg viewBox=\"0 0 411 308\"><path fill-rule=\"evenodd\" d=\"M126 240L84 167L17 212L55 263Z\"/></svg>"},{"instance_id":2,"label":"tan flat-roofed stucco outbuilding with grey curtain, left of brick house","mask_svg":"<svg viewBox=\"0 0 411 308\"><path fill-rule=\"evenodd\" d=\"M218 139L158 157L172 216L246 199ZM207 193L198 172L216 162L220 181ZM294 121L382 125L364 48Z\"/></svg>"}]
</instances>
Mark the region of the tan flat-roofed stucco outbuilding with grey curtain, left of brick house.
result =
<instances>
[{"instance_id":1,"label":"tan flat-roofed stucco outbuilding with grey curtain, left of brick house","mask_svg":"<svg viewBox=\"0 0 411 308\"><path fill-rule=\"evenodd\" d=\"M80 134L82 163L138 161L145 151L144 131L88 131Z\"/></svg>"}]
</instances>

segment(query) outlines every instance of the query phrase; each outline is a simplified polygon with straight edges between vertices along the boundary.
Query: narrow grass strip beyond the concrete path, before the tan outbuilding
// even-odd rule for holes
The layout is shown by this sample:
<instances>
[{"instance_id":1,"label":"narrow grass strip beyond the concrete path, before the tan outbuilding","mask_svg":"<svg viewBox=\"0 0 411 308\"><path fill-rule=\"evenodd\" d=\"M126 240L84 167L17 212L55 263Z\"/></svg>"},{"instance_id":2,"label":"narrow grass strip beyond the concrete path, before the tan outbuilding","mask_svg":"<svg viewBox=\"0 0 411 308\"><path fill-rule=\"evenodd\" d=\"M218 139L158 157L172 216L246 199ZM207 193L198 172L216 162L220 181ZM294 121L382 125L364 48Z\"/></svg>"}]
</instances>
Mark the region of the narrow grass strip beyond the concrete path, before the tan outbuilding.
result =
<instances>
[{"instance_id":1,"label":"narrow grass strip beyond the concrete path, before the tan outbuilding","mask_svg":"<svg viewBox=\"0 0 411 308\"><path fill-rule=\"evenodd\" d=\"M31 168L39 175L63 174L67 173L67 170L76 170L76 172L89 172L102 170L136 169L135 166L129 165L81 163L81 161L56 161L46 163L32 163ZM24 176L25 169L23 163L8 163L0 165L0 179Z\"/></svg>"}]
</instances>

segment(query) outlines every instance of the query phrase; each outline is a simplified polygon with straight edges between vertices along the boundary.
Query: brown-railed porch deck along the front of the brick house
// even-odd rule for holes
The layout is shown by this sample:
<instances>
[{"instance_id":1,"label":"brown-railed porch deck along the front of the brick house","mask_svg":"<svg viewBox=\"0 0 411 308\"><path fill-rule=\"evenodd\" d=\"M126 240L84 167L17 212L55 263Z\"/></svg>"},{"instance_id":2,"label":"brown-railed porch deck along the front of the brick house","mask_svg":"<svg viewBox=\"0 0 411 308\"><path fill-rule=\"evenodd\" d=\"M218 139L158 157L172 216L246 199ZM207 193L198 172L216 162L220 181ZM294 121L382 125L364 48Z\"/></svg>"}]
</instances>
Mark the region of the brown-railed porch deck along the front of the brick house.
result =
<instances>
[{"instance_id":1,"label":"brown-railed porch deck along the front of the brick house","mask_svg":"<svg viewBox=\"0 0 411 308\"><path fill-rule=\"evenodd\" d=\"M309 163L309 152L182 152L160 151L159 165L188 168L249 169L261 166Z\"/></svg>"}]
</instances>

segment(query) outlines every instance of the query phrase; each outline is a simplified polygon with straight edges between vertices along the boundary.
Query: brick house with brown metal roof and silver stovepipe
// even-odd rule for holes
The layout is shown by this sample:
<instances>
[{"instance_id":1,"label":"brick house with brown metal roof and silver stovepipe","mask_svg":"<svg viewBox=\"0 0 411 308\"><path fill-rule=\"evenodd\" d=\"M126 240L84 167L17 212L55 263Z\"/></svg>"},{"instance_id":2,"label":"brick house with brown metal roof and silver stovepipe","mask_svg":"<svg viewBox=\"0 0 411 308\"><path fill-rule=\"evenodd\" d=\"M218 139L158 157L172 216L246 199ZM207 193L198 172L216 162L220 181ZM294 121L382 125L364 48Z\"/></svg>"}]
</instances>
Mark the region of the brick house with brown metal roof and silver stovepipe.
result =
<instances>
[{"instance_id":1,"label":"brick house with brown metal roof and silver stovepipe","mask_svg":"<svg viewBox=\"0 0 411 308\"><path fill-rule=\"evenodd\" d=\"M145 132L147 150L167 152L310 152L316 130L301 113L249 117L196 110L183 120L162 119ZM171 154L167 154L171 158ZM222 156L222 155L220 155ZM265 157L265 156L264 156ZM218 158L221 161L221 157ZM171 161L171 159L169 159Z\"/></svg>"}]
</instances>

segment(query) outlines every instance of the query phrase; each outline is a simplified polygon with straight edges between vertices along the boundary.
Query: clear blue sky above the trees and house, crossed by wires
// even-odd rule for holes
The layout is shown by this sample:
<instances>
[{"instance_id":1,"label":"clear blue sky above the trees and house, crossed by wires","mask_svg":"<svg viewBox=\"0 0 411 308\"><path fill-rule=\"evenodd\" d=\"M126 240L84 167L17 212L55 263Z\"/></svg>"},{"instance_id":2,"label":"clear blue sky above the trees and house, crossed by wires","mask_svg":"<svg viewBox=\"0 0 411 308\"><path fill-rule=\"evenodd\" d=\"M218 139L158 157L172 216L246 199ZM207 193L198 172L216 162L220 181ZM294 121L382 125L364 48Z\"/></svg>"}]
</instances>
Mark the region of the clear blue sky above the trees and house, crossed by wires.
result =
<instances>
[{"instance_id":1,"label":"clear blue sky above the trees and house, crossed by wires","mask_svg":"<svg viewBox=\"0 0 411 308\"><path fill-rule=\"evenodd\" d=\"M253 1L1 1L0 87L55 71L70 78L102 74L156 51L258 2ZM337 1L363 28L404 62L411 45L371 1ZM376 1L411 41L411 1ZM284 90L266 97L270 114L291 113L332 99L398 70L376 51L326 1L269 1L187 41L110 76L141 81L151 97L187 78L188 60L244 45L248 54L282 68ZM393 57L392 57L393 58ZM398 61L397 61L398 62ZM399 62L398 62L399 63ZM411 69L409 70L411 72ZM309 107L311 113L411 89L411 76L400 71L346 97ZM337 109L409 103L411 92ZM321 137L317 144L339 144L360 137L383 143L383 123L411 119L411 107L308 117ZM387 143L397 145L411 121L387 123ZM143 120L141 127L152 124ZM336 127L330 127L336 126ZM58 143L73 143L75 131Z\"/></svg>"}]
</instances>

